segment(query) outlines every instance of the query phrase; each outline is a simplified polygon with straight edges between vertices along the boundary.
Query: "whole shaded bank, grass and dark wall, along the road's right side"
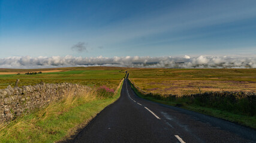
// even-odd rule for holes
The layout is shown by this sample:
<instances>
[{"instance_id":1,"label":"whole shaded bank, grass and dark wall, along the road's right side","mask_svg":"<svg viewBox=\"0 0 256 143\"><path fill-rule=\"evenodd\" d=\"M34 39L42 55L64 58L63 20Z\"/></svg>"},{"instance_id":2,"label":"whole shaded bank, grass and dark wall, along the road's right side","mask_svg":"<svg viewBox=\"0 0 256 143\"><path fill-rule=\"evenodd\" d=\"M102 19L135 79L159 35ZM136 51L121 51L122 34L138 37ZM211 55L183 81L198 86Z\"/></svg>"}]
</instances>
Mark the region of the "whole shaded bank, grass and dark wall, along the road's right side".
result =
<instances>
[{"instance_id":1,"label":"whole shaded bank, grass and dark wall, along the road's right side","mask_svg":"<svg viewBox=\"0 0 256 143\"><path fill-rule=\"evenodd\" d=\"M195 96L195 98L191 98L188 96L164 97L159 94L145 94L146 92L141 91L141 89L133 84L131 84L132 89L141 98L197 111L198 113L229 120L256 129L255 95L251 97L250 100L240 98L236 100L236 104L232 104L230 101L233 99L230 97L218 96L219 100L214 101L213 99L216 99L217 95L215 95L215 97L213 95L204 97L202 94L201 97ZM212 98L209 98L210 96L212 96ZM205 101L201 101L203 99Z\"/></svg>"}]
</instances>

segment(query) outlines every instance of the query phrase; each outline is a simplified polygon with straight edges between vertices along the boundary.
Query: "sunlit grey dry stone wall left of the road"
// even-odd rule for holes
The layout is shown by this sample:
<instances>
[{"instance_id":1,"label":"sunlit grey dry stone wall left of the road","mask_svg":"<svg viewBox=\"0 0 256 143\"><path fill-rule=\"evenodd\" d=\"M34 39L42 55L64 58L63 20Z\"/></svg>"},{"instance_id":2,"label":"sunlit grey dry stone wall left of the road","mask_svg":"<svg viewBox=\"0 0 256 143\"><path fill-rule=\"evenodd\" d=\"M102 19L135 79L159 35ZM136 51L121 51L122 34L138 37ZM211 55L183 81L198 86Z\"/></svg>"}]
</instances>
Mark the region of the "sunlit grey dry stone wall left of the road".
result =
<instances>
[{"instance_id":1,"label":"sunlit grey dry stone wall left of the road","mask_svg":"<svg viewBox=\"0 0 256 143\"><path fill-rule=\"evenodd\" d=\"M0 124L60 100L67 95L66 92L76 91L74 89L89 90L88 86L72 83L40 83L14 88L9 85L6 89L0 89Z\"/></svg>"}]
</instances>

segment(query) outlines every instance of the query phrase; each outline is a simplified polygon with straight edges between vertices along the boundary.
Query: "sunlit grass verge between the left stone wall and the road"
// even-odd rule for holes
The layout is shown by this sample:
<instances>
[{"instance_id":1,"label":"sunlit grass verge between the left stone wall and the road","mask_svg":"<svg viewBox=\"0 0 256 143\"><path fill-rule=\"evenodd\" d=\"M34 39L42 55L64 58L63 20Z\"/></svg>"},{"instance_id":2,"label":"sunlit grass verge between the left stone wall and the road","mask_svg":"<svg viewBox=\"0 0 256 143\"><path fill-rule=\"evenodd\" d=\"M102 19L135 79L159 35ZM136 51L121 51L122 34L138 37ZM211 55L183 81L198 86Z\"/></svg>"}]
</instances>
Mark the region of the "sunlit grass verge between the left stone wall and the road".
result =
<instances>
[{"instance_id":1,"label":"sunlit grass verge between the left stone wall and the road","mask_svg":"<svg viewBox=\"0 0 256 143\"><path fill-rule=\"evenodd\" d=\"M64 100L53 102L43 110L26 114L0 129L0 142L55 142L68 138L121 94L123 80L112 98L99 98L90 92L70 91Z\"/></svg>"}]
</instances>

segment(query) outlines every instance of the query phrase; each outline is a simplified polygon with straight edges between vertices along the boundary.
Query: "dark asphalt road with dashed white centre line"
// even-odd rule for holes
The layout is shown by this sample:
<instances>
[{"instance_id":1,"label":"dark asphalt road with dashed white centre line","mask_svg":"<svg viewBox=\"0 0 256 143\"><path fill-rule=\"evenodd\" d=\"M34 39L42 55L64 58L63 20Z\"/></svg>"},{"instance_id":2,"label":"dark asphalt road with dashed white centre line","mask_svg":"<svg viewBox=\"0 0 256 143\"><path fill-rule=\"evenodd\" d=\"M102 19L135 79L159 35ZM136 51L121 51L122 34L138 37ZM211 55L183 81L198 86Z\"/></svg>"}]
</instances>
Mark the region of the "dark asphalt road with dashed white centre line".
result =
<instances>
[{"instance_id":1,"label":"dark asphalt road with dashed white centre line","mask_svg":"<svg viewBox=\"0 0 256 143\"><path fill-rule=\"evenodd\" d=\"M125 79L121 97L66 142L256 142L256 130L144 100Z\"/></svg>"}]
</instances>

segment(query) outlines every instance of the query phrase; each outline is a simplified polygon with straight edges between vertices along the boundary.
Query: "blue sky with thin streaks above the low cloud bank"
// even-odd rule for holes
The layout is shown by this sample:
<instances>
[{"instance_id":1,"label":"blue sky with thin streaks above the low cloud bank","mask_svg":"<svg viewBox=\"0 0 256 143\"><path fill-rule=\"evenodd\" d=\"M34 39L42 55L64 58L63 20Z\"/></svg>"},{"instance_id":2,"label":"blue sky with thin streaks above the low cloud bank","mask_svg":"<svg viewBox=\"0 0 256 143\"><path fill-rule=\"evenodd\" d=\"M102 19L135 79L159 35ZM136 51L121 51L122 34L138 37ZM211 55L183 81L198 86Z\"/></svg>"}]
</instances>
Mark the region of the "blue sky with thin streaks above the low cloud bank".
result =
<instances>
[{"instance_id":1,"label":"blue sky with thin streaks above the low cloud bank","mask_svg":"<svg viewBox=\"0 0 256 143\"><path fill-rule=\"evenodd\" d=\"M256 54L256 1L0 0L0 58Z\"/></svg>"}]
</instances>

